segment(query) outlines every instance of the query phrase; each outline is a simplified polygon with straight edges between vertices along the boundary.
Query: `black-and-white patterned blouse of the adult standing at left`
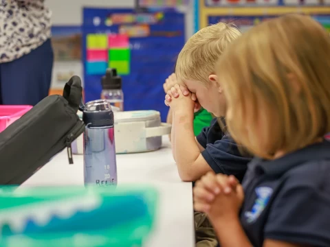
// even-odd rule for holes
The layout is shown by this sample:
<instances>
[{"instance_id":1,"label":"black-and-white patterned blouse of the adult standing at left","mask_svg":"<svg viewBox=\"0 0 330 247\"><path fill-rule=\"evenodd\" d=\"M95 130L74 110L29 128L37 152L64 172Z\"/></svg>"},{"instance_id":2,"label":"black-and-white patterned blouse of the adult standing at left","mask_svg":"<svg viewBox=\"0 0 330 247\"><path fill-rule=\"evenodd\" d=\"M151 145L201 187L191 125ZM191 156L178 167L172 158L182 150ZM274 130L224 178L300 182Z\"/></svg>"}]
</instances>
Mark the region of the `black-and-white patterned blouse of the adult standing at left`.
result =
<instances>
[{"instance_id":1,"label":"black-and-white patterned blouse of the adult standing at left","mask_svg":"<svg viewBox=\"0 0 330 247\"><path fill-rule=\"evenodd\" d=\"M51 36L45 0L0 0L0 63L41 46Z\"/></svg>"}]
</instances>

